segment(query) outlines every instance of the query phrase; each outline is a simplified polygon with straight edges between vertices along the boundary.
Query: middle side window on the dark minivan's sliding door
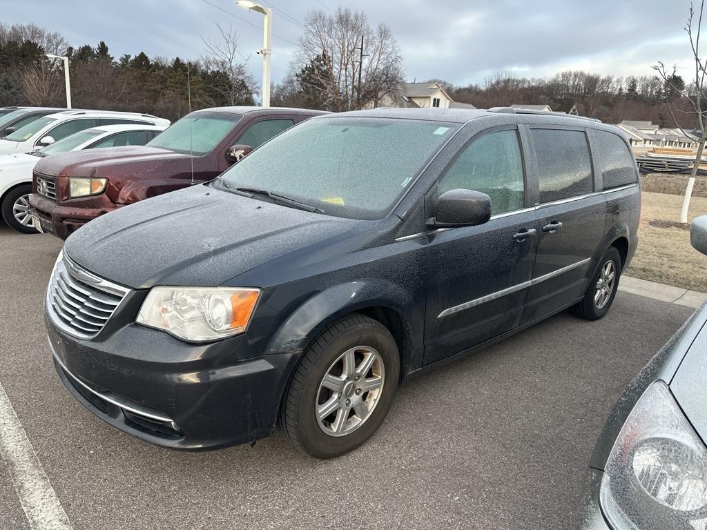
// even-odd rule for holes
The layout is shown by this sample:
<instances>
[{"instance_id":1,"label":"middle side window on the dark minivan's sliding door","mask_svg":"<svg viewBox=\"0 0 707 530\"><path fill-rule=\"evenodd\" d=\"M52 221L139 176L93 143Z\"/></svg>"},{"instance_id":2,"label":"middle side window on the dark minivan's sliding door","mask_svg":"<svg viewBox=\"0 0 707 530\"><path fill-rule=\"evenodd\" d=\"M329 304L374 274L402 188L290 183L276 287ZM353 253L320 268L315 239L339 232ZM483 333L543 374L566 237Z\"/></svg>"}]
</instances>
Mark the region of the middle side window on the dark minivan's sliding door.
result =
<instances>
[{"instance_id":1,"label":"middle side window on the dark minivan's sliding door","mask_svg":"<svg viewBox=\"0 0 707 530\"><path fill-rule=\"evenodd\" d=\"M540 204L592 193L592 163L583 131L532 129Z\"/></svg>"}]
</instances>

